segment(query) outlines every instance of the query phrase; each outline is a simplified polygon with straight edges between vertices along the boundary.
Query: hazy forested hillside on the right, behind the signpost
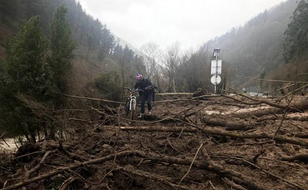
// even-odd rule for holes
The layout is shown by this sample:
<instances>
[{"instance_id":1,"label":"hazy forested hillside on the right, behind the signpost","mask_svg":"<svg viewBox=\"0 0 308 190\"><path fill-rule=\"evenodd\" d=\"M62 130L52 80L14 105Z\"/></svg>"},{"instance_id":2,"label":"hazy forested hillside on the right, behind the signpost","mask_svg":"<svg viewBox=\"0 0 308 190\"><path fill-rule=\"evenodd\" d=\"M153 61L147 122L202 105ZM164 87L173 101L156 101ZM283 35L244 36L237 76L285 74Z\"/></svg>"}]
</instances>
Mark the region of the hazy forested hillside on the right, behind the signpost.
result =
<instances>
[{"instance_id":1,"label":"hazy forested hillside on the right, behind the signpost","mask_svg":"<svg viewBox=\"0 0 308 190\"><path fill-rule=\"evenodd\" d=\"M210 43L221 48L221 58L229 65L232 86L248 86L247 79L239 76L268 79L295 79L295 71L281 75L286 67L294 68L292 60L284 59L284 44L288 24L292 20L297 7L297 0L287 0L260 13L244 26L231 29L225 35L215 38ZM292 62L292 63L291 63ZM291 63L286 66L286 64ZM282 68L281 68L282 67ZM303 65L301 68L308 70ZM252 84L252 85L251 85ZM250 83L254 91L261 90L260 83ZM267 85L262 86L267 90Z\"/></svg>"}]
</instances>

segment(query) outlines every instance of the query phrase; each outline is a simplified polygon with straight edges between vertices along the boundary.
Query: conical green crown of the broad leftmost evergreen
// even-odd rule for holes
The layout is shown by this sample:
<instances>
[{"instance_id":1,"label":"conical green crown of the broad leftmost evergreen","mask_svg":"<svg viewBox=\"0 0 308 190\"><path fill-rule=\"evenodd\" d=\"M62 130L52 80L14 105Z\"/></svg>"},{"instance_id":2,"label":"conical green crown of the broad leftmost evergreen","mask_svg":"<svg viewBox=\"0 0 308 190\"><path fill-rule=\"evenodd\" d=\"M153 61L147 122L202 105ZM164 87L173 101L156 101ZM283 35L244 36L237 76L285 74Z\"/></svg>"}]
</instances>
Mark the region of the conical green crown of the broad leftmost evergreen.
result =
<instances>
[{"instance_id":1,"label":"conical green crown of the broad leftmost evergreen","mask_svg":"<svg viewBox=\"0 0 308 190\"><path fill-rule=\"evenodd\" d=\"M44 63L47 39L39 24L39 16L32 17L10 40L5 68L18 91L40 99L46 92L49 74Z\"/></svg>"}]
</instances>

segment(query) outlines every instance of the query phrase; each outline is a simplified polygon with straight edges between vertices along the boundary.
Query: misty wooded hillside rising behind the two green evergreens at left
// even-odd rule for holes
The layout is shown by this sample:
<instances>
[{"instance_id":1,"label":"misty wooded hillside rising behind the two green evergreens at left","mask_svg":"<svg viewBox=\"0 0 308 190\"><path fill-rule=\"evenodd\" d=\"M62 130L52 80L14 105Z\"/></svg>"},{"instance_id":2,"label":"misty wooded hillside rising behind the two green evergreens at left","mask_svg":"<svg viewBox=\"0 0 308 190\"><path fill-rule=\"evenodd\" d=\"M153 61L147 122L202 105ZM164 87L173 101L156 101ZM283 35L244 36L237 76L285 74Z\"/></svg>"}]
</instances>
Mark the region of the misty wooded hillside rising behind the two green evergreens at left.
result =
<instances>
[{"instance_id":1,"label":"misty wooded hillside rising behind the two green evergreens at left","mask_svg":"<svg viewBox=\"0 0 308 190\"><path fill-rule=\"evenodd\" d=\"M72 28L72 37L77 41L74 65L94 76L100 71L110 71L117 67L117 59L113 56L114 48L119 43L123 49L125 40L114 35L110 29L99 20L94 19L82 9L75 0L10 0L0 2L0 61L6 59L8 39L19 31L31 16L40 15L41 27L48 36L49 22L56 7L65 4L68 7L68 21Z\"/></svg>"}]
</instances>

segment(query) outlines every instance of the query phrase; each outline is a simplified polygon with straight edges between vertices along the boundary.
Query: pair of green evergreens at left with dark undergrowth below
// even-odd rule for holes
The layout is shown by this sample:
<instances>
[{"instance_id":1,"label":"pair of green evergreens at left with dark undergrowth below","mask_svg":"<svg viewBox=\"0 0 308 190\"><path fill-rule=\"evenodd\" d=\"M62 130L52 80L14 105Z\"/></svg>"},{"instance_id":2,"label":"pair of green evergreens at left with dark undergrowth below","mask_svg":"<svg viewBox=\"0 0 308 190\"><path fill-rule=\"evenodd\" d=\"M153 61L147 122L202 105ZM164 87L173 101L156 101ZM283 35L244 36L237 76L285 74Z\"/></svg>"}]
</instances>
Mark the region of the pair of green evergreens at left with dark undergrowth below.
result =
<instances>
[{"instance_id":1,"label":"pair of green evergreens at left with dark undergrowth below","mask_svg":"<svg viewBox=\"0 0 308 190\"><path fill-rule=\"evenodd\" d=\"M50 43L39 27L39 16L31 17L11 38L0 86L1 130L24 134L36 142L36 132L42 126L47 137L46 118L33 113L23 98L58 105L59 92L64 91L64 78L76 48L66 13L65 6L57 8L50 25Z\"/></svg>"}]
</instances>

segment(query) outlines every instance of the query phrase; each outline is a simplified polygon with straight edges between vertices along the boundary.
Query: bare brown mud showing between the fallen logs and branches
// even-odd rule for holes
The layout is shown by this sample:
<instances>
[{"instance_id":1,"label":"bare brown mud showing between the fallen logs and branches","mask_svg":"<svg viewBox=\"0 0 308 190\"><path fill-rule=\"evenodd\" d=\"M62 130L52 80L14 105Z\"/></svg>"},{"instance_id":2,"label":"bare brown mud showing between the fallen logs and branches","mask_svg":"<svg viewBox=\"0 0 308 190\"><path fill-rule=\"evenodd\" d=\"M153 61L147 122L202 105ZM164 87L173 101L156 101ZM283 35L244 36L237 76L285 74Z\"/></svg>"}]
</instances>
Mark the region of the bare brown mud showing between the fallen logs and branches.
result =
<instances>
[{"instance_id":1,"label":"bare brown mud showing between the fallen logs and branches","mask_svg":"<svg viewBox=\"0 0 308 190\"><path fill-rule=\"evenodd\" d=\"M217 98L219 99L219 98ZM217 100L213 99L213 100ZM220 99L219 99L220 100ZM268 108L269 106L247 106L246 108L238 108L224 105L214 105L212 101L204 102L175 102L168 104L154 105L153 113L159 118L173 117L183 110L192 107L188 113L198 111L189 117L189 121L197 126L206 129L216 129L225 131L224 127L204 125L200 117L211 116L212 118L224 118L234 122L246 122L248 124L255 123L254 117L246 119L238 119L234 117L234 113L245 113L252 110ZM123 111L120 112L120 116ZM183 115L183 113L181 113ZM305 113L292 113L288 116L307 116ZM269 171L289 182L292 182L303 189L308 189L308 165L303 161L296 160L287 162L281 160L281 155L294 155L296 153L308 153L308 148L298 145L292 145L281 142L270 142L264 144L254 144L258 142L269 141L269 139L239 139L221 136L212 136L211 140L202 133L164 133L164 132L144 132L144 131L121 131L119 126L149 126L149 127L187 127L188 125L180 121L163 121L154 123L140 123L128 120L114 118L113 125L104 123L96 123L96 128L88 126L82 133L75 133L74 136L64 142L67 150L76 153L87 159L96 159L108 156L115 152L123 151L142 151L149 155L170 156L192 160L195 156L200 143L204 142L203 151L205 151L210 159L223 166L224 169L236 171L246 176L251 182L257 184L265 190L297 190L298 188L287 184L277 178L265 174L260 169L251 165L234 164L228 156L251 160L263 150L264 153L257 158L255 164L262 169ZM147 121L147 120L139 120ZM97 122L97 120L96 120ZM292 122L290 124L289 122ZM246 130L245 133L251 134L274 134L279 127L281 120L265 120L252 126L252 129ZM300 126L300 127L298 127ZM308 121L285 120L282 122L279 135L286 137L295 137L302 135L301 139L308 141ZM307 137L305 137L305 135ZM9 141L10 142L10 141ZM40 151L48 150L48 145L58 144L58 141L45 141L39 143ZM14 145L15 146L15 145ZM32 161L29 163L6 162L1 167L8 169L1 170L1 183L8 180L6 187L14 185L20 180L12 180L12 174L19 169L35 167L41 159L43 153L32 155ZM14 155L13 155L14 156ZM196 161L206 161L202 152L198 152L195 157ZM233 160L234 161L234 160ZM78 161L71 159L61 151L56 151L47 158L38 172L31 177L39 176L51 172L57 168L72 165ZM53 177L32 183L28 186L28 190L37 189L60 189L67 184L70 177L77 177L67 186L67 190L173 190L176 187L166 185L155 177L151 179L140 177L129 173L125 170L116 169L121 166L130 171L149 172L151 175L160 176L162 179L169 177L172 184L178 185L181 179L188 172L188 175L181 181L181 186L191 190L231 190L229 185L223 182L222 176L210 170L197 169L189 165L179 165L167 162L159 162L153 159L140 158L138 156L124 156L105 161L100 164L90 164L80 166L74 172L66 171ZM6 173L5 173L6 171ZM77 175L78 174L78 175ZM17 175L18 176L18 175ZM82 178L83 179L82 179ZM170 182L170 181L169 181ZM168 183L169 183L168 182ZM171 182L170 182L171 183ZM1 186L0 186L1 187ZM245 187L252 190L251 187Z\"/></svg>"}]
</instances>

